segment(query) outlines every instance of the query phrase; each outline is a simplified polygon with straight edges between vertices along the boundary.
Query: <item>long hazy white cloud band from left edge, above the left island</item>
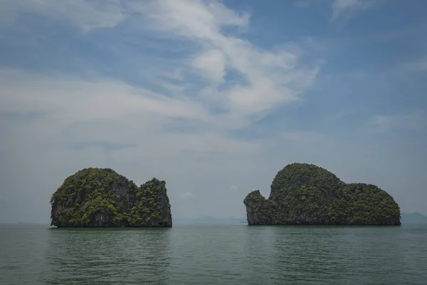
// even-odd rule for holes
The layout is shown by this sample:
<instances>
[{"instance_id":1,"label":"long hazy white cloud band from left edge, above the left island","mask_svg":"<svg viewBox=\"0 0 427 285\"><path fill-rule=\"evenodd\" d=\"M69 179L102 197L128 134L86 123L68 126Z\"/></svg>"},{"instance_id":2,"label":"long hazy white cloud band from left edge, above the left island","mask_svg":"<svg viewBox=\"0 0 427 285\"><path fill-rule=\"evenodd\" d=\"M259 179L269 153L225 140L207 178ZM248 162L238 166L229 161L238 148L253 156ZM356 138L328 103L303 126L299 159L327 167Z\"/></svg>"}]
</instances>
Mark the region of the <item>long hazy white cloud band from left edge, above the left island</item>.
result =
<instances>
[{"instance_id":1,"label":"long hazy white cloud band from left edge, above the left island","mask_svg":"<svg viewBox=\"0 0 427 285\"><path fill-rule=\"evenodd\" d=\"M202 120L207 116L189 98L171 98L120 81L84 81L16 70L0 70L0 81L3 111L48 112L52 119L70 121L114 119L138 112Z\"/></svg>"}]
</instances>

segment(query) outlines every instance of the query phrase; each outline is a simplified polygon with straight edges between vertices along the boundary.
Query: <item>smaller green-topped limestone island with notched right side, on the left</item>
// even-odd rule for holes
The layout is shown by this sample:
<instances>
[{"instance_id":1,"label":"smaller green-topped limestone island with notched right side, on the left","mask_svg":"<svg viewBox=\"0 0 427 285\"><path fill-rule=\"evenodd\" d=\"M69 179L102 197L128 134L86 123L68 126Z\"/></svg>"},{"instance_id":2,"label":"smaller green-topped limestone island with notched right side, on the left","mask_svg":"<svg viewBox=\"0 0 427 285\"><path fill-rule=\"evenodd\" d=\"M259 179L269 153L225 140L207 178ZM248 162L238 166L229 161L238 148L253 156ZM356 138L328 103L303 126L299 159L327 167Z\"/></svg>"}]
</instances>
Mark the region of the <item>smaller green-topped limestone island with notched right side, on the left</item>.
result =
<instances>
[{"instance_id":1,"label":"smaller green-topped limestone island with notched right side, on the left","mask_svg":"<svg viewBox=\"0 0 427 285\"><path fill-rule=\"evenodd\" d=\"M66 178L51 198L51 226L172 227L166 182L137 187L109 168L85 168Z\"/></svg>"}]
</instances>

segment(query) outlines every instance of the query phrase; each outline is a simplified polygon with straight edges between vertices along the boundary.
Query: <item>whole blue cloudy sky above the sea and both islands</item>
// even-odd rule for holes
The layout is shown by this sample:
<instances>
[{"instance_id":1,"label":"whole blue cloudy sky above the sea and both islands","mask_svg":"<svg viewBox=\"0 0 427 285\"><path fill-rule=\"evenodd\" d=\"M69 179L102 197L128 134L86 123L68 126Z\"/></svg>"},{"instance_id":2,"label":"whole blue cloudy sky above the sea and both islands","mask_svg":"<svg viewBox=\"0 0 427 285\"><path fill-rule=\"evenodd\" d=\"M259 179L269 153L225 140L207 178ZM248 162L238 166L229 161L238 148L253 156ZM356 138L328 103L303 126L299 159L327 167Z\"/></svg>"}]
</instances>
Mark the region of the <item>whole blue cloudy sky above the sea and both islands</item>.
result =
<instances>
[{"instance_id":1,"label":"whole blue cloudy sky above the sea and both islands","mask_svg":"<svg viewBox=\"0 0 427 285\"><path fill-rule=\"evenodd\" d=\"M292 162L427 213L427 1L1 0L0 222L85 167L246 217Z\"/></svg>"}]
</instances>

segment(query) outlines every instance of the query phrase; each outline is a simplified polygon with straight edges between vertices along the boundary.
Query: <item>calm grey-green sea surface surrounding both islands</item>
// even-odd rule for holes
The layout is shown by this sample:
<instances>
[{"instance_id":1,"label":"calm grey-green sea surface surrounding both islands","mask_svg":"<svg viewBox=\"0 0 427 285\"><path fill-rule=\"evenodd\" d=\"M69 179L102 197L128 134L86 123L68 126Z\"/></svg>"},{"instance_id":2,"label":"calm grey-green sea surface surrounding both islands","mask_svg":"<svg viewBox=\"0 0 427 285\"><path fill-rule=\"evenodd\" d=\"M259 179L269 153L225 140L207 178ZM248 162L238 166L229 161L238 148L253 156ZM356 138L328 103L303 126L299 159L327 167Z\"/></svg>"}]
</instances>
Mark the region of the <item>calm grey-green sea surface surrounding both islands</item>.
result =
<instances>
[{"instance_id":1,"label":"calm grey-green sea surface surrounding both islands","mask_svg":"<svg viewBox=\"0 0 427 285\"><path fill-rule=\"evenodd\" d=\"M0 284L427 284L427 225L0 226Z\"/></svg>"}]
</instances>

